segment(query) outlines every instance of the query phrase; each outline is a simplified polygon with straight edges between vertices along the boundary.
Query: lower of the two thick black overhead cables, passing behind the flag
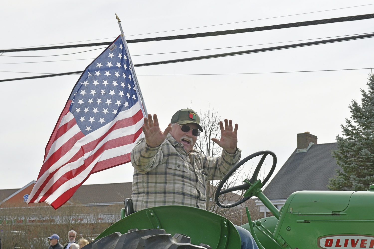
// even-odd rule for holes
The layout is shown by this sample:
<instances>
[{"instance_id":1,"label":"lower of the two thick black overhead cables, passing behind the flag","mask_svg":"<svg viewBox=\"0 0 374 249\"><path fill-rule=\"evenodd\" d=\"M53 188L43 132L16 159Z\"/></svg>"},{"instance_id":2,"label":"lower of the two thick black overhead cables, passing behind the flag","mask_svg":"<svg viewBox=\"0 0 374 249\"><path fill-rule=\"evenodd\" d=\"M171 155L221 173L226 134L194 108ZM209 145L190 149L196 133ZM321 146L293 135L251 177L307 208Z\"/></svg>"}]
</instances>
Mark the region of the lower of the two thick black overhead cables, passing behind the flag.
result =
<instances>
[{"instance_id":1,"label":"lower of the two thick black overhead cables, passing behind the flag","mask_svg":"<svg viewBox=\"0 0 374 249\"><path fill-rule=\"evenodd\" d=\"M206 55L206 56L190 57L190 58L184 58L184 59L164 60L164 61L159 61L159 62L142 63L142 64L135 64L134 67L160 65L160 64L176 63L176 62L185 62L185 61L191 61L191 60L211 59L211 58L234 56L234 55L245 55L245 54L249 54L249 53L260 53L260 52L266 52L266 51L290 49L290 48L293 48L293 47L313 46L313 45L318 45L318 44L327 44L327 43L335 43L335 42L340 42L340 41L358 40L358 39L371 38L371 37L374 37L374 34L355 35L355 36L350 36L350 37L341 37L341 38L322 40L322 41L311 41L311 42L308 42L308 43L289 44L289 45L283 45L283 46L277 46L277 47L268 47L268 48L262 48L262 49L252 49L252 50L239 51L239 52L223 53L223 54L218 54L218 55ZM62 73L62 74L40 75L40 76L32 76L32 77L24 77L24 78L13 78L13 79L0 80L0 82L13 81L13 80L46 78L46 77L54 77L54 76L69 75L69 74L79 74L79 73L83 73L83 71L67 72L67 73Z\"/></svg>"}]
</instances>

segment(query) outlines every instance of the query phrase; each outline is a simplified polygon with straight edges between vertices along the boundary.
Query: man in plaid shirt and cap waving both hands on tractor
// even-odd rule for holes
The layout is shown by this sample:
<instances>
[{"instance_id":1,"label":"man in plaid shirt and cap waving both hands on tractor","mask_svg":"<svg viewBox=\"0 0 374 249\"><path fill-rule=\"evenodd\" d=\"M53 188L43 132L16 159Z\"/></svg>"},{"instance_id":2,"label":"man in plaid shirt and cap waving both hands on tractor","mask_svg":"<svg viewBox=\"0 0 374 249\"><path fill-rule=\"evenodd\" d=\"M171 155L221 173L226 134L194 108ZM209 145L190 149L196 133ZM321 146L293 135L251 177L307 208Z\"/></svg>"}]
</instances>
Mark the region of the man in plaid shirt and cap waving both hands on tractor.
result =
<instances>
[{"instance_id":1,"label":"man in plaid shirt and cap waving both hands on tractor","mask_svg":"<svg viewBox=\"0 0 374 249\"><path fill-rule=\"evenodd\" d=\"M222 147L220 157L204 156L193 148L203 131L199 115L192 109L177 111L162 132L157 115L144 118L145 138L131 152L134 166L132 203L134 211L164 205L184 205L205 209L206 181L221 180L240 160L237 128L227 119L220 122L221 138L212 140ZM237 227L243 248L257 248L251 234Z\"/></svg>"}]
</instances>

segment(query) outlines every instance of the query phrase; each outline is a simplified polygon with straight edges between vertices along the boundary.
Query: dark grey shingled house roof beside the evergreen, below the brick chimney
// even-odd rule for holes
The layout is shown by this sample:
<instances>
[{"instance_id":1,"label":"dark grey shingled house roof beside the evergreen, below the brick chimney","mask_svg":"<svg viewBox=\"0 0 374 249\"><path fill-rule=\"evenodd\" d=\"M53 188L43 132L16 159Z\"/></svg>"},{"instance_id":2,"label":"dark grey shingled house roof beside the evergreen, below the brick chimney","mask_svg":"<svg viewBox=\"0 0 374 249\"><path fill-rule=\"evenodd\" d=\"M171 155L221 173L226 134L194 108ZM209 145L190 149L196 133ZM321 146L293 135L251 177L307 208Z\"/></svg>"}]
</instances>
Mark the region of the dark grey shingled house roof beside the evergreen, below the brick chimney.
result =
<instances>
[{"instance_id":1,"label":"dark grey shingled house roof beside the evergreen, below the brick chimney","mask_svg":"<svg viewBox=\"0 0 374 249\"><path fill-rule=\"evenodd\" d=\"M329 178L339 168L331 150L337 143L313 144L307 152L295 151L263 190L268 199L287 199L300 190L328 190Z\"/></svg>"}]
</instances>

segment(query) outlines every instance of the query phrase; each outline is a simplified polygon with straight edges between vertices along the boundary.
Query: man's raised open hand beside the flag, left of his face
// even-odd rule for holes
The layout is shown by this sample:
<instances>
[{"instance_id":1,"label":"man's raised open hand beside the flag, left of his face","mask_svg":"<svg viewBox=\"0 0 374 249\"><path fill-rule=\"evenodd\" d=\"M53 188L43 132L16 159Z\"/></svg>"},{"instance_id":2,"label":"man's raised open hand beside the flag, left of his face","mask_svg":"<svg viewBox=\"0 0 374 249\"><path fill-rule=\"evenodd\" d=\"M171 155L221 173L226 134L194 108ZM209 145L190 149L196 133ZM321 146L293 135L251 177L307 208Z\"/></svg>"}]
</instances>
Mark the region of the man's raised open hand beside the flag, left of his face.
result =
<instances>
[{"instance_id":1,"label":"man's raised open hand beside the flag, left of his face","mask_svg":"<svg viewBox=\"0 0 374 249\"><path fill-rule=\"evenodd\" d=\"M147 142L148 147L151 148L158 147L160 144L162 144L171 130L170 125L166 127L164 132L160 130L159 121L156 114L153 114L153 120L152 115L148 114L148 119L144 118L144 125L141 127L145 135L145 141Z\"/></svg>"}]
</instances>

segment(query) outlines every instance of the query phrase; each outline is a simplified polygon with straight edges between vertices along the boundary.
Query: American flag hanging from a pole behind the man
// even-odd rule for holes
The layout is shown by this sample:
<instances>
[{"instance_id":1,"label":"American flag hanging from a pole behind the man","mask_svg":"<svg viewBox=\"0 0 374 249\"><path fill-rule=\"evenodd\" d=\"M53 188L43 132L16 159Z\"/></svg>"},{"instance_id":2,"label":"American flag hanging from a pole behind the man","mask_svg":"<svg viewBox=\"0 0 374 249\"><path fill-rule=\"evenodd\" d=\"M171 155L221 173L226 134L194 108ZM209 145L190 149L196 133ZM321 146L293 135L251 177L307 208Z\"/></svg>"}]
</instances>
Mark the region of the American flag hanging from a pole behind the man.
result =
<instances>
[{"instance_id":1,"label":"American flag hanging from a pole behind the man","mask_svg":"<svg viewBox=\"0 0 374 249\"><path fill-rule=\"evenodd\" d=\"M123 42L119 35L74 86L27 203L57 209L89 175L130 162L145 114Z\"/></svg>"}]
</instances>

